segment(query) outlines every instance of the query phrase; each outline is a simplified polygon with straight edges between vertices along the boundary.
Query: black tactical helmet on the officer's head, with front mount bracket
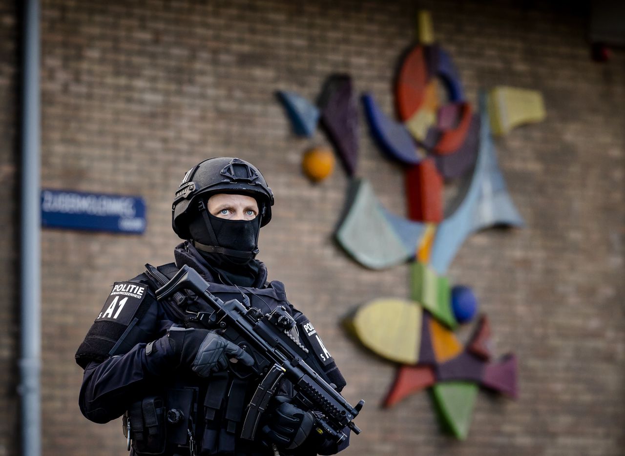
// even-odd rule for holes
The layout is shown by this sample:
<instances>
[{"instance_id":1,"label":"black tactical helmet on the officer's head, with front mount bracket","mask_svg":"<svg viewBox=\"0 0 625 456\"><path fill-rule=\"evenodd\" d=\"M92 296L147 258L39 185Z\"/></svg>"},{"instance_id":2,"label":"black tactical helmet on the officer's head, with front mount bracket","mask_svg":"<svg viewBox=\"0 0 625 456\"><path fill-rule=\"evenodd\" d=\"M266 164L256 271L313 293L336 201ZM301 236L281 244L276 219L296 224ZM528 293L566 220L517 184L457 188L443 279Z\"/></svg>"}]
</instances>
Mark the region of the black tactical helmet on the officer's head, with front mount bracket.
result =
<instances>
[{"instance_id":1,"label":"black tactical helmet on the officer's head, with front mount bracket","mask_svg":"<svg viewBox=\"0 0 625 456\"><path fill-rule=\"evenodd\" d=\"M191 238L191 217L197 214L199 205L207 197L216 193L246 194L254 197L259 202L261 227L271 221L273 192L257 167L237 158L211 158L189 169L176 191L171 207L171 225L179 237Z\"/></svg>"}]
</instances>

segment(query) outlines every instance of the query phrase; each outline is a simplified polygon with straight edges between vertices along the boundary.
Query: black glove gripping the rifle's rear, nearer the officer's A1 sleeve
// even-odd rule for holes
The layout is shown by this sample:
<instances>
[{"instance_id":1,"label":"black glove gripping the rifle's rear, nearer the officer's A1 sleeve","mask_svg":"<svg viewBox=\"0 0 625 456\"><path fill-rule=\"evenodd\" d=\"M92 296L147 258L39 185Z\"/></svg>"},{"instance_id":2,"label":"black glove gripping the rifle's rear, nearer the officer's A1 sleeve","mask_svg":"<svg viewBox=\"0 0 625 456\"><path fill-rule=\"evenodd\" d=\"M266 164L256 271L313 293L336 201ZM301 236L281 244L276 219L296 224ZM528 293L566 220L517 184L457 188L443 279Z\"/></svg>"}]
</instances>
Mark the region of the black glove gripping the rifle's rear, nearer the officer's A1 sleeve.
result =
<instances>
[{"instance_id":1,"label":"black glove gripping the rifle's rear, nearer the officer's A1 sleeve","mask_svg":"<svg viewBox=\"0 0 625 456\"><path fill-rule=\"evenodd\" d=\"M146 345L147 367L156 375L189 366L200 377L208 377L211 372L226 369L231 357L244 365L254 364L241 347L207 329L172 326L161 339Z\"/></svg>"}]
</instances>

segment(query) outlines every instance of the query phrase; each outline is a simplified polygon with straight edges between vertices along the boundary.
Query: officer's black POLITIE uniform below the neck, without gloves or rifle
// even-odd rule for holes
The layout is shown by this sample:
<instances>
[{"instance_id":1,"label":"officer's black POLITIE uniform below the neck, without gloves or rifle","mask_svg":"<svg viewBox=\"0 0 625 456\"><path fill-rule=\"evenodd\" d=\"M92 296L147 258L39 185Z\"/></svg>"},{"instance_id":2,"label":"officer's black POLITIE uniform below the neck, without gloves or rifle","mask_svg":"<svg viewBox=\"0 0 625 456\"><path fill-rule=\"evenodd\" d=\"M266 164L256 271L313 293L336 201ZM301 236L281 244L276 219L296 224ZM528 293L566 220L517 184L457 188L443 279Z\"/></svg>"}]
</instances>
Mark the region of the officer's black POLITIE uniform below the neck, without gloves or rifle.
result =
<instances>
[{"instance_id":1,"label":"officer's black POLITIE uniform below the neck, without gloves or rifle","mask_svg":"<svg viewBox=\"0 0 625 456\"><path fill-rule=\"evenodd\" d=\"M298 324L302 343L318 356L317 365L322 370L319 374L337 390L344 387L341 373L314 328L287 301L284 285L266 282L262 262L254 260L256 277L252 286L243 287L232 284L232 275L224 277L223 271L207 262L190 242L178 245L174 256L175 265L159 267L169 277L186 264L211 283L211 292L224 301L238 299L263 313L284 305ZM154 290L159 285L146 273L114 285L76 354L76 361L85 369L79 397L83 415L93 422L106 423L130 410L135 436L146 441L154 439L158 447L159 439L166 435L166 449L158 454L273 455L273 450L262 443L260 429L254 442L238 437L242 414L257 379L240 379L231 369L201 378L190 369L172 370L158 352L151 351L150 342L163 337L172 325L185 325L185 315L191 315L193 309L192 303L178 306L157 301ZM292 396L288 382L282 385L281 394ZM138 427L137 416L141 418ZM345 432L349 437L349 430ZM347 445L349 439L337 446L313 433L297 449L281 453L334 454ZM133 454L142 451L146 450L141 445L133 448Z\"/></svg>"}]
</instances>

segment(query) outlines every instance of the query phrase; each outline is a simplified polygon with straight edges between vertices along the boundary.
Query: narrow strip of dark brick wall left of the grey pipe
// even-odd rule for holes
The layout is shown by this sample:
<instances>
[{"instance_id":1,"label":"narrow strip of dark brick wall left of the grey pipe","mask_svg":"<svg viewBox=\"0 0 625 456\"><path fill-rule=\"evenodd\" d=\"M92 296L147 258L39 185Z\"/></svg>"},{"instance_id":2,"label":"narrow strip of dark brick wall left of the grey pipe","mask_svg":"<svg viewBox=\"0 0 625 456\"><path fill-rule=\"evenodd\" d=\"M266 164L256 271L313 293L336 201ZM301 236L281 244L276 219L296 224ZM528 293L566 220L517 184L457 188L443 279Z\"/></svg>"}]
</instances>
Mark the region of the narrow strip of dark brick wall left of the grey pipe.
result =
<instances>
[{"instance_id":1,"label":"narrow strip of dark brick wall left of the grey pipe","mask_svg":"<svg viewBox=\"0 0 625 456\"><path fill-rule=\"evenodd\" d=\"M0 1L0 455L14 454L19 415L17 324L17 14L15 2Z\"/></svg>"}]
</instances>

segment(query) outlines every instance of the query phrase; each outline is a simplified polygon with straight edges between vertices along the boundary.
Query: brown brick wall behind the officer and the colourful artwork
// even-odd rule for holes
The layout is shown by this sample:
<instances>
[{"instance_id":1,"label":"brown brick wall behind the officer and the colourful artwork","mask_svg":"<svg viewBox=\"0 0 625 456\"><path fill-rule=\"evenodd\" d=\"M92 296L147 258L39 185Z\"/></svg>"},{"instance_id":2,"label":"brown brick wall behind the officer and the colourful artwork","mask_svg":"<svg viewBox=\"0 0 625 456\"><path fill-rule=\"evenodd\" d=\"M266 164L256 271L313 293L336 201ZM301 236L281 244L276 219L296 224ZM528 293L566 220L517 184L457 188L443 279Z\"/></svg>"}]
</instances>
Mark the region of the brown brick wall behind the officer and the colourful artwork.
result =
<instances>
[{"instance_id":1,"label":"brown brick wall behind the officer and the colourful artwork","mask_svg":"<svg viewBox=\"0 0 625 456\"><path fill-rule=\"evenodd\" d=\"M15 19L0 2L2 49ZM414 2L280 0L42 2L42 186L141 194L141 237L44 230L42 422L44 454L123 454L121 424L96 425L78 410L73 355L114 280L171 259L173 191L206 157L257 164L276 194L262 230L270 277L315 322L361 397L364 430L346 454L617 455L625 442L625 59L589 59L586 11L567 5L424 1L437 39L456 61L469 100L495 84L542 91L547 119L497 141L522 230L487 230L463 245L454 283L474 287L497 352L519 355L517 402L481 393L469 438L439 432L428 394L391 410L377 404L394 365L347 339L337 321L354 305L407 296L407 267L362 269L332 242L347 179L340 169L312 186L300 161L311 144L291 134L273 92L314 99L330 72L348 72L391 112L397 58L411 42ZM528 6L531 5L531 6ZM3 55L6 53L3 53ZM0 61L2 149L14 149L15 61ZM359 175L381 201L404 210L401 170L380 156L361 119ZM1 196L14 201L14 156L3 153ZM11 209L14 211L14 207ZM9 232L8 214L2 213ZM14 236L14 234L11 234ZM0 260L14 280L14 251ZM11 275L13 274L13 275ZM14 407L14 297L0 308L6 392ZM5 339L6 342L5 342ZM7 368L8 367L8 368ZM13 454L14 422L0 425Z\"/></svg>"}]
</instances>

